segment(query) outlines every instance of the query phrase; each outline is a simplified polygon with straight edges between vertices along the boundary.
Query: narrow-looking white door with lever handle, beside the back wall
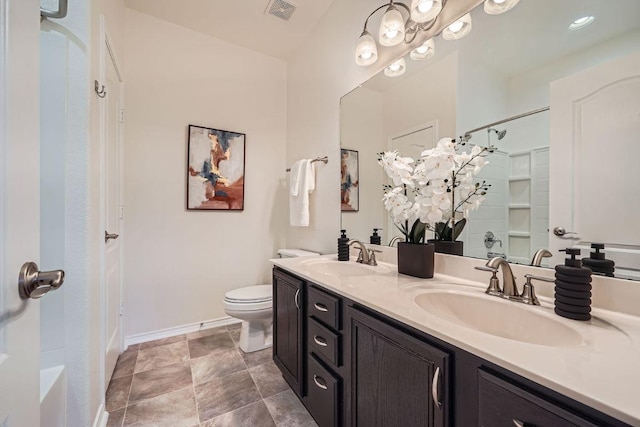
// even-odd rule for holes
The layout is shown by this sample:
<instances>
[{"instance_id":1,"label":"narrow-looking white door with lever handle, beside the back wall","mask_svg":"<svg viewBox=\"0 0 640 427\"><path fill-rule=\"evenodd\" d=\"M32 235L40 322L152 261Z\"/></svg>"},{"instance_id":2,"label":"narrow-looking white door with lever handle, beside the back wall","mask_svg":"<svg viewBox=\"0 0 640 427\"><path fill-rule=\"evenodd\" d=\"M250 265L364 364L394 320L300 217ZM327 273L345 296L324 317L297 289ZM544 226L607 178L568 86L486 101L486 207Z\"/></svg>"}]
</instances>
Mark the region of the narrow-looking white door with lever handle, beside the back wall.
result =
<instances>
[{"instance_id":1,"label":"narrow-looking white door with lever handle, beside the back wall","mask_svg":"<svg viewBox=\"0 0 640 427\"><path fill-rule=\"evenodd\" d=\"M106 32L103 32L106 34ZM121 283L121 121L122 80L108 38L103 46L105 92L102 105L102 138L104 155L104 325L105 325L105 391L121 350L120 283Z\"/></svg>"}]
</instances>

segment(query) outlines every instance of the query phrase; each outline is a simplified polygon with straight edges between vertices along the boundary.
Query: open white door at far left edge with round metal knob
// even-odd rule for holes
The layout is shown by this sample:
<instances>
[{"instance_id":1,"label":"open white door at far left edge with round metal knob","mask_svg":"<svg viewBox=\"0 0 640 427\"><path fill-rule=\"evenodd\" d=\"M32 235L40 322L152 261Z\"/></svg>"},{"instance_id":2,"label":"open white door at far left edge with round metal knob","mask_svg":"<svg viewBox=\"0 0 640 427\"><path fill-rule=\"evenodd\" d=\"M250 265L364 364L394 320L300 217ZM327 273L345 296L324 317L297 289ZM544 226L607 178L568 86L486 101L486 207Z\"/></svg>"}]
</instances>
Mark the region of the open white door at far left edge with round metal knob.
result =
<instances>
[{"instance_id":1,"label":"open white door at far left edge with round metal knob","mask_svg":"<svg viewBox=\"0 0 640 427\"><path fill-rule=\"evenodd\" d=\"M40 425L40 306L18 272L40 252L38 0L0 0L0 426ZM46 298L46 297L45 297Z\"/></svg>"}]
</instances>

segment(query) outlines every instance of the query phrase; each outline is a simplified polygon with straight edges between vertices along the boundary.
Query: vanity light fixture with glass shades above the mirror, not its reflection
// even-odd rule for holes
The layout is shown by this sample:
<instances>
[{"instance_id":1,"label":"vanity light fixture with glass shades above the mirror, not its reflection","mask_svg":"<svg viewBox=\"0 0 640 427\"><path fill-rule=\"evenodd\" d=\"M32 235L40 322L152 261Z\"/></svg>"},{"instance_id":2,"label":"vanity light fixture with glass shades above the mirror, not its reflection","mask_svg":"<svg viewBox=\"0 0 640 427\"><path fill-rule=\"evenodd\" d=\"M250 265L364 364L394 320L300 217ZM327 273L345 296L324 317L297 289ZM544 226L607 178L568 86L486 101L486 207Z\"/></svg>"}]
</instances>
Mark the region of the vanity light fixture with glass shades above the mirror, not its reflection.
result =
<instances>
[{"instance_id":1,"label":"vanity light fixture with glass shades above the mirror, not its reflection","mask_svg":"<svg viewBox=\"0 0 640 427\"><path fill-rule=\"evenodd\" d=\"M369 19L379 10L386 9L378 29L378 42L382 46L411 43L420 31L427 31L436 23L447 0L412 0L411 7L390 0L376 8L364 21L364 28L356 43L356 64L371 65L378 59L375 40L367 30ZM405 19L402 11L406 12Z\"/></svg>"}]
</instances>

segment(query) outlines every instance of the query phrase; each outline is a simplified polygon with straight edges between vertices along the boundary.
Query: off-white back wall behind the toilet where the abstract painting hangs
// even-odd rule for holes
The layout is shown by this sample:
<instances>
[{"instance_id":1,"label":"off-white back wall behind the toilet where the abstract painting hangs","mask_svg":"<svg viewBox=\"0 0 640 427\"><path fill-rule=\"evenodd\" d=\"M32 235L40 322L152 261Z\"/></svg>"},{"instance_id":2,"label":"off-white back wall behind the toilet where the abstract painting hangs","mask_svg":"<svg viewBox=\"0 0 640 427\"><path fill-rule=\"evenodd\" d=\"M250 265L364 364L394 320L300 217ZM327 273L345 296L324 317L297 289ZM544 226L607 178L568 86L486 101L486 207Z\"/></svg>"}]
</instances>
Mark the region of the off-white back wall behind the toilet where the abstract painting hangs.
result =
<instances>
[{"instance_id":1,"label":"off-white back wall behind the toilet where the abstract painting hangs","mask_svg":"<svg viewBox=\"0 0 640 427\"><path fill-rule=\"evenodd\" d=\"M287 75L283 61L129 9L125 39L131 336L221 318L226 291L270 283L288 221ZM186 211L189 124L246 134L244 211Z\"/></svg>"}]
</instances>

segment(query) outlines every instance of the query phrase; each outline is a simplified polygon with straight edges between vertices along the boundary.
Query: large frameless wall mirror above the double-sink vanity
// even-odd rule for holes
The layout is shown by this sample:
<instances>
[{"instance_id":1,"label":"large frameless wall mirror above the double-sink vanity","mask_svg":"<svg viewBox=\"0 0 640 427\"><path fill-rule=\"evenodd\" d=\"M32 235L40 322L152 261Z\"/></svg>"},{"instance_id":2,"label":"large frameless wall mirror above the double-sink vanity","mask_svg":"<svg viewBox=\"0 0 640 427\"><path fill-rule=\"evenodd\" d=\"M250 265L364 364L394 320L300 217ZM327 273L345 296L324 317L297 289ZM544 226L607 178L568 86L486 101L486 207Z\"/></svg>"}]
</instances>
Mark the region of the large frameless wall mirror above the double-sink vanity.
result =
<instances>
[{"instance_id":1,"label":"large frameless wall mirror above the double-sink vanity","mask_svg":"<svg viewBox=\"0 0 640 427\"><path fill-rule=\"evenodd\" d=\"M617 277L640 278L640 2L521 0L471 16L465 38L437 36L430 59L407 55L403 75L381 72L341 99L341 148L357 151L359 166L358 210L341 212L342 228L364 242L382 228L389 244L399 232L381 201L377 153L414 157L467 134L496 151L481 172L491 188L460 236L465 256L529 264L545 248L554 256L543 266L553 266L562 247L586 257L605 243ZM569 28L585 16L590 25Z\"/></svg>"}]
</instances>

